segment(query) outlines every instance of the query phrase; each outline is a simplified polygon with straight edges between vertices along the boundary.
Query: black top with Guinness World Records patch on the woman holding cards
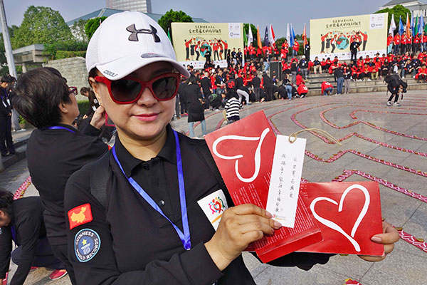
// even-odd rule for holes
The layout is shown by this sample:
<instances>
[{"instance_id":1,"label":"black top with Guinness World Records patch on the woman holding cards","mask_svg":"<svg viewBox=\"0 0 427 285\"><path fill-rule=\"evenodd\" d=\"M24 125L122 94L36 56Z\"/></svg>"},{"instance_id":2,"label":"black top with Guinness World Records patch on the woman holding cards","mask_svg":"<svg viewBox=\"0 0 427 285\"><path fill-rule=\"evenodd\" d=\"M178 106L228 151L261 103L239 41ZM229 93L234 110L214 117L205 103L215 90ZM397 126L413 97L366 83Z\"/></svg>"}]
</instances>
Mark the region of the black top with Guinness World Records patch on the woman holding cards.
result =
<instances>
[{"instance_id":1,"label":"black top with Guinness World Records patch on the woman holding cards","mask_svg":"<svg viewBox=\"0 0 427 285\"><path fill-rule=\"evenodd\" d=\"M186 251L172 225L130 186L110 156L106 186L107 208L90 194L91 165L83 167L68 181L65 190L65 211L90 204L93 220L68 230L70 262L80 284L191 284L251 285L255 284L242 257L237 257L219 271L204 247L214 235L209 219L203 212L206 205L198 201L218 190L231 207L228 191L221 187L201 149L209 153L204 140L191 140L178 133L184 170L186 207L191 233L191 250ZM126 175L132 175L164 214L182 229L176 170L175 142L172 129L167 127L167 141L157 157L142 162L132 157L116 141L116 153ZM93 258L81 262L75 254L79 232L96 232L100 247ZM80 250L80 248L78 248ZM271 264L299 266L310 269L325 263L330 254L292 253Z\"/></svg>"}]
</instances>

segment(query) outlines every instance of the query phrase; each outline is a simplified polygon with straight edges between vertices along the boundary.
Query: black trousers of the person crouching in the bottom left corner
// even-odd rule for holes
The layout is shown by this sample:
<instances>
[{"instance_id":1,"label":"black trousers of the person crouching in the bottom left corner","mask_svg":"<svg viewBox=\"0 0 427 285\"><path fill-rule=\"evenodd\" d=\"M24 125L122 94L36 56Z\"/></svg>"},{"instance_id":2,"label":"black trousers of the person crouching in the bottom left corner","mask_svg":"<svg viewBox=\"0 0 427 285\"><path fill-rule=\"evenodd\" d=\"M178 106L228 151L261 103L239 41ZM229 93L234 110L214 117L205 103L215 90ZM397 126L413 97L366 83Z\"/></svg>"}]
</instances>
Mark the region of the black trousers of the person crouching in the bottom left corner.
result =
<instances>
[{"instance_id":1,"label":"black trousers of the person crouching in the bottom left corner","mask_svg":"<svg viewBox=\"0 0 427 285\"><path fill-rule=\"evenodd\" d=\"M21 254L22 247L18 247L12 252L11 257L15 264L19 265L21 263ZM31 265L48 269L65 269L63 263L53 255L51 244L49 244L47 237L42 237L38 240L36 257L34 257Z\"/></svg>"}]
</instances>

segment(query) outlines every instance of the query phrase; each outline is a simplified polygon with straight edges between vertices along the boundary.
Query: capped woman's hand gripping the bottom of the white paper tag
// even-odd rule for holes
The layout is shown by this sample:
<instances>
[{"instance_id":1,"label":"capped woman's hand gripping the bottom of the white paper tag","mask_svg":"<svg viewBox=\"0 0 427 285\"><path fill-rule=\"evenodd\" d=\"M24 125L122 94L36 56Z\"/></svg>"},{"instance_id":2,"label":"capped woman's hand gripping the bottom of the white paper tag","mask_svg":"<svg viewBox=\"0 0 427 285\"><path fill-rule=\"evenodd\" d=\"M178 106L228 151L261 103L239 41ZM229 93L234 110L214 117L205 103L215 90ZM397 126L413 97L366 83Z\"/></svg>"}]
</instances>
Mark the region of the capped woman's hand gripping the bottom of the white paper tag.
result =
<instances>
[{"instance_id":1,"label":"capped woman's hand gripping the bottom of the white paper tag","mask_svg":"<svg viewBox=\"0 0 427 285\"><path fill-rule=\"evenodd\" d=\"M280 229L282 225L272 217L254 204L226 209L214 237L205 244L218 269L226 269L251 242L262 239L264 234L274 234L274 229Z\"/></svg>"}]
</instances>

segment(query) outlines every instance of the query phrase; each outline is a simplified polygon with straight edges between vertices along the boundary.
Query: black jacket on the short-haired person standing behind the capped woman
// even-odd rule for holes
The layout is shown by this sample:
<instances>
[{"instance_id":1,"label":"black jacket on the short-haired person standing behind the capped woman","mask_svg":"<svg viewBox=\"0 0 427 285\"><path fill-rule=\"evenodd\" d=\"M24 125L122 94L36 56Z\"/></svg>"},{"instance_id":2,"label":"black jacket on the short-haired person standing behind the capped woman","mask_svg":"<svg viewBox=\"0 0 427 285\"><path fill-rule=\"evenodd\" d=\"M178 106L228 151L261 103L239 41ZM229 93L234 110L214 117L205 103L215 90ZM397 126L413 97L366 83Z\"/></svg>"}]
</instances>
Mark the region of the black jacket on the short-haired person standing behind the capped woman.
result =
<instances>
[{"instance_id":1,"label":"black jacket on the short-haired person standing behind the capped woman","mask_svg":"<svg viewBox=\"0 0 427 285\"><path fill-rule=\"evenodd\" d=\"M27 145L27 162L33 185L43 204L43 217L51 245L67 244L65 238L64 190L68 178L83 165L108 150L97 135L100 130L88 125L83 133L73 130L36 129Z\"/></svg>"}]
</instances>

